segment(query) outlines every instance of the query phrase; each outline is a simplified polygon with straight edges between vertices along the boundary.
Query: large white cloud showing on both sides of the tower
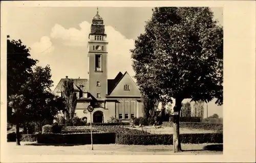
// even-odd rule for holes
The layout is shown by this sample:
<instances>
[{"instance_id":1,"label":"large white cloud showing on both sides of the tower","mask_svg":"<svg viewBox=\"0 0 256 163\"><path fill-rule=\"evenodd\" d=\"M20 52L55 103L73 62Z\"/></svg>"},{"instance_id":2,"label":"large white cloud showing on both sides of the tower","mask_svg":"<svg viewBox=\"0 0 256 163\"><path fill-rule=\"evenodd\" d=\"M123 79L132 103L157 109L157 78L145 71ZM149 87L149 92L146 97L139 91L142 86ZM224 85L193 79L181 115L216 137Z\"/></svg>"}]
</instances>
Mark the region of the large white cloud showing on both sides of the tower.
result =
<instances>
[{"instance_id":1,"label":"large white cloud showing on both sides of the tower","mask_svg":"<svg viewBox=\"0 0 256 163\"><path fill-rule=\"evenodd\" d=\"M89 41L89 33L91 24L87 21L81 22L80 29L65 29L61 25L56 24L51 31L51 38L60 40L61 43L68 46L82 46L87 48ZM127 71L131 76L134 75L132 69L132 60L130 49L134 48L134 40L126 39L120 32L111 26L106 26L106 40L108 44L108 76L114 78L118 72Z\"/></svg>"}]
</instances>

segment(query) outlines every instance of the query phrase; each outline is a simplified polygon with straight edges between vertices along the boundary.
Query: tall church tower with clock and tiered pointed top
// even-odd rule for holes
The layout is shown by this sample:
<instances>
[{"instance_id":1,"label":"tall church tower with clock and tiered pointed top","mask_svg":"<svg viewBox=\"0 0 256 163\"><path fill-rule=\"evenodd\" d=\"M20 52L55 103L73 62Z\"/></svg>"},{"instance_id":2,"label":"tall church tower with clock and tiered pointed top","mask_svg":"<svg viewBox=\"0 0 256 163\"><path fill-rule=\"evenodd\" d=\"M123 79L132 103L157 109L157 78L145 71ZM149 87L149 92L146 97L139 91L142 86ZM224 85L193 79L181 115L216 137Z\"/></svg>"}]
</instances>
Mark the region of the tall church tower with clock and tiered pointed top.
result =
<instances>
[{"instance_id":1,"label":"tall church tower with clock and tiered pointed top","mask_svg":"<svg viewBox=\"0 0 256 163\"><path fill-rule=\"evenodd\" d=\"M105 26L97 8L93 17L88 42L89 91L98 101L104 101L108 94L107 58L108 42L105 40Z\"/></svg>"}]
</instances>

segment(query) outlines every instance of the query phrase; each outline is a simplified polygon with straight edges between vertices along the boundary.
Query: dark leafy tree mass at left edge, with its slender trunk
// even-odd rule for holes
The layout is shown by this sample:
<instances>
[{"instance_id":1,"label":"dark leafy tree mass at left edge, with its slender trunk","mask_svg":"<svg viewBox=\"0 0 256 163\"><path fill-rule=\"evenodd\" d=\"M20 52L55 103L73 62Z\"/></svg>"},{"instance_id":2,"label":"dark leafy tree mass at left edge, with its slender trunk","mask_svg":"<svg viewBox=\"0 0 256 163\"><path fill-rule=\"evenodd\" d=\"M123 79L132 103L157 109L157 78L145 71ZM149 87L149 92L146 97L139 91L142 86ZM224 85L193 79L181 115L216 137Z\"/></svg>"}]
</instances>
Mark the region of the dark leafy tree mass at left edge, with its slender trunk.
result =
<instances>
[{"instance_id":1,"label":"dark leafy tree mass at left edge, with its slender trunk","mask_svg":"<svg viewBox=\"0 0 256 163\"><path fill-rule=\"evenodd\" d=\"M16 144L19 143L19 127L29 122L41 123L53 120L63 108L61 98L51 94L51 69L36 66L37 60L30 57L29 49L21 40L7 39L7 119L16 125ZM34 71L33 71L34 70Z\"/></svg>"}]
</instances>

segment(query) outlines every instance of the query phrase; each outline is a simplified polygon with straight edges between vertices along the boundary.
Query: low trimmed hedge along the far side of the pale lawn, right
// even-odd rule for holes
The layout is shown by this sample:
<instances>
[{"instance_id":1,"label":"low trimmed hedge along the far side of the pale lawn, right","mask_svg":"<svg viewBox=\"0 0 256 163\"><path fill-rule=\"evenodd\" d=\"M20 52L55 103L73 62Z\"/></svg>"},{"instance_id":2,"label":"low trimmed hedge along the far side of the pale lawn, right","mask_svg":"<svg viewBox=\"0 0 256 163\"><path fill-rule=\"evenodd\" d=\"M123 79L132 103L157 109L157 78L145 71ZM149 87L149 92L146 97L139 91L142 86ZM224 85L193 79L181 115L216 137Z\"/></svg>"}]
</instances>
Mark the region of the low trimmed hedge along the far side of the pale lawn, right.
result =
<instances>
[{"instance_id":1,"label":"low trimmed hedge along the far side of the pale lawn, right","mask_svg":"<svg viewBox=\"0 0 256 163\"><path fill-rule=\"evenodd\" d=\"M173 122L163 122L163 126L173 127ZM223 124L201 123L201 122L180 122L180 128L222 130Z\"/></svg>"}]
</instances>

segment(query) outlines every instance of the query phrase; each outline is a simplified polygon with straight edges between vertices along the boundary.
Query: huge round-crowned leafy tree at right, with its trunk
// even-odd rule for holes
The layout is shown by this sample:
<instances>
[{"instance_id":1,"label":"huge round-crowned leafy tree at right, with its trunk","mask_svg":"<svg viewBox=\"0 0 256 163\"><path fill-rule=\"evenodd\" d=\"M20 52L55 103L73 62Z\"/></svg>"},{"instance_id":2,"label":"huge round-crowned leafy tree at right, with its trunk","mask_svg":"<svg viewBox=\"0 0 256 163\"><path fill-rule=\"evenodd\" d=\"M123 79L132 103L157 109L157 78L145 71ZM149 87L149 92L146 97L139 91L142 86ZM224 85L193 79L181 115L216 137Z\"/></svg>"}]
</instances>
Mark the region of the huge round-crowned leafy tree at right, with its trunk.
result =
<instances>
[{"instance_id":1,"label":"huge round-crowned leafy tree at right, with its trunk","mask_svg":"<svg viewBox=\"0 0 256 163\"><path fill-rule=\"evenodd\" d=\"M174 152L181 151L182 101L223 103L223 27L213 17L207 7L155 8L131 50L141 91L175 99Z\"/></svg>"}]
</instances>

